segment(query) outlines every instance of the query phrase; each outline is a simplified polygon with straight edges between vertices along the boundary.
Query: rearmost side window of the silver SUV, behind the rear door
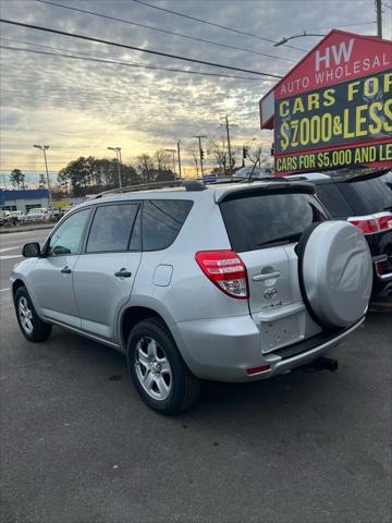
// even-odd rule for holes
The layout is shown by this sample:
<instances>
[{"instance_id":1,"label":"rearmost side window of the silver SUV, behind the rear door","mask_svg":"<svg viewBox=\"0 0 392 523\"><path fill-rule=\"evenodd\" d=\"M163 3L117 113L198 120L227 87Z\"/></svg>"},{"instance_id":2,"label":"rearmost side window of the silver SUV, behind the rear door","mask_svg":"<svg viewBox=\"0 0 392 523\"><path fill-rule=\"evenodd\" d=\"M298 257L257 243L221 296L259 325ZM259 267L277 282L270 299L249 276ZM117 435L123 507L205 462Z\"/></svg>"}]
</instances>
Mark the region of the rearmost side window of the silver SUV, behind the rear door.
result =
<instances>
[{"instance_id":1,"label":"rearmost side window of the silver SUV, behind the rear door","mask_svg":"<svg viewBox=\"0 0 392 523\"><path fill-rule=\"evenodd\" d=\"M193 202L152 199L143 206L143 251L169 247L181 231Z\"/></svg>"}]
</instances>

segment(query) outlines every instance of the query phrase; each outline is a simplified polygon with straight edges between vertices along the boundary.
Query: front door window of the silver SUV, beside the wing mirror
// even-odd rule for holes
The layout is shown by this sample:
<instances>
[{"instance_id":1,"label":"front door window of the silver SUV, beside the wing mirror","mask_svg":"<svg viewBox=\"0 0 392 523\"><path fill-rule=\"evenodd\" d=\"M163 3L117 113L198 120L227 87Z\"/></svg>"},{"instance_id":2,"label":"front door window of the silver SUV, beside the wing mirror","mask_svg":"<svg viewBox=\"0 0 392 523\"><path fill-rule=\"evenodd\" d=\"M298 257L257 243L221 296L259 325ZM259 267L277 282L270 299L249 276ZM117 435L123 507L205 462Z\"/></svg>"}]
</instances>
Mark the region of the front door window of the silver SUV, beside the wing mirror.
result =
<instances>
[{"instance_id":1,"label":"front door window of the silver SUV, beside the wing mirror","mask_svg":"<svg viewBox=\"0 0 392 523\"><path fill-rule=\"evenodd\" d=\"M77 254L89 212L89 208L83 209L63 221L50 238L47 254L51 256Z\"/></svg>"}]
</instances>

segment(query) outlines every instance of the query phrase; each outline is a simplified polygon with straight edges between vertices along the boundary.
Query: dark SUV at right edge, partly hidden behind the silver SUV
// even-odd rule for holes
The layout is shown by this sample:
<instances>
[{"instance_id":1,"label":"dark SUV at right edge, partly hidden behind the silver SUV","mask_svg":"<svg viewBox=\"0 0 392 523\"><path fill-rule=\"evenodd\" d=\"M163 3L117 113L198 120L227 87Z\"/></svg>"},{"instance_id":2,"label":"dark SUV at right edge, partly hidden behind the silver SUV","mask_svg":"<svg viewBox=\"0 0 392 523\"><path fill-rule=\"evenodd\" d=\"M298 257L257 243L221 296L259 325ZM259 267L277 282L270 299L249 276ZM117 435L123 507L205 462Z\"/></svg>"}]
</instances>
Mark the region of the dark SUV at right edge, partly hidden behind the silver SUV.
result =
<instances>
[{"instance_id":1,"label":"dark SUV at right edge, partly hidden behind the silver SUV","mask_svg":"<svg viewBox=\"0 0 392 523\"><path fill-rule=\"evenodd\" d=\"M392 172L347 170L311 178L316 193L331 217L357 227L373 259L372 295L392 295ZM298 179L298 177L296 177Z\"/></svg>"}]
</instances>

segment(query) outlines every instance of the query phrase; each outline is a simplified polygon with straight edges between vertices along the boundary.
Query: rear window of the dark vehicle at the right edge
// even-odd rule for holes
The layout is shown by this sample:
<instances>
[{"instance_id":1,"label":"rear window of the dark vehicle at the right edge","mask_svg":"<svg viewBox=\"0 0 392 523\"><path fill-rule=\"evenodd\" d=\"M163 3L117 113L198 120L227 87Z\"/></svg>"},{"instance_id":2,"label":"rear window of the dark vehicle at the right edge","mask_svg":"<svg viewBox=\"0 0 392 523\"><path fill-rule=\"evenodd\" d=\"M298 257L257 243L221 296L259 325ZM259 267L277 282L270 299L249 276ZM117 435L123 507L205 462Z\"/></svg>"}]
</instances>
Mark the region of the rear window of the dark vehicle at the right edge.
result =
<instances>
[{"instance_id":1,"label":"rear window of the dark vehicle at the right edge","mask_svg":"<svg viewBox=\"0 0 392 523\"><path fill-rule=\"evenodd\" d=\"M356 215L370 215L392 207L392 172L368 180L344 182L346 198Z\"/></svg>"}]
</instances>

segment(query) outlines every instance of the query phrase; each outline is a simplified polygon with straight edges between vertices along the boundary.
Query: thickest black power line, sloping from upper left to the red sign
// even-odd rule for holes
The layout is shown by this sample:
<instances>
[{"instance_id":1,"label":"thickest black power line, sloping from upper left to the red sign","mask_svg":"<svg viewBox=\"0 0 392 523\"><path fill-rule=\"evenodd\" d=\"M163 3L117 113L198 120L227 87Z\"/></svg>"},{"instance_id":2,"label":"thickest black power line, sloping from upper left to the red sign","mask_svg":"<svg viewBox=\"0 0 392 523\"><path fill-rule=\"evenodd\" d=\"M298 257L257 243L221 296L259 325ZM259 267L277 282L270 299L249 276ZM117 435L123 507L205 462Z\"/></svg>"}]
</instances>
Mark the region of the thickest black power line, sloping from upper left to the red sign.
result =
<instances>
[{"instance_id":1,"label":"thickest black power line, sloping from upper left to the red sign","mask_svg":"<svg viewBox=\"0 0 392 523\"><path fill-rule=\"evenodd\" d=\"M24 24L22 22L15 22L13 20L0 19L0 22L2 22L3 24L16 25L19 27L27 27L29 29L44 31L46 33L52 33L52 34L56 34L56 35L71 36L72 38L79 38L82 40L97 41L99 44L106 44L107 46L121 47L121 48L124 48L124 49L132 49L134 51L146 52L148 54L157 54L159 57L173 58L175 60L182 60L182 61L185 61L185 62L201 63L204 65L210 65L212 68L230 69L231 71L240 71L242 73L258 74L260 76L270 76L270 77L273 77L273 78L281 78L282 77L281 75L278 75L278 74L264 73L264 72L260 72L260 71L252 71L249 69L234 68L233 65L223 65L221 63L207 62L205 60L197 60L195 58L183 57L183 56L180 56L180 54L170 54L168 52L156 51L156 50L152 50L152 49L144 49L142 47L128 46L128 45L125 45L125 44L119 44L117 41L103 40L102 38L94 38L93 36L78 35L76 33L68 33L65 31L52 29L50 27L41 27L39 25Z\"/></svg>"}]
</instances>

